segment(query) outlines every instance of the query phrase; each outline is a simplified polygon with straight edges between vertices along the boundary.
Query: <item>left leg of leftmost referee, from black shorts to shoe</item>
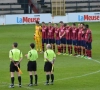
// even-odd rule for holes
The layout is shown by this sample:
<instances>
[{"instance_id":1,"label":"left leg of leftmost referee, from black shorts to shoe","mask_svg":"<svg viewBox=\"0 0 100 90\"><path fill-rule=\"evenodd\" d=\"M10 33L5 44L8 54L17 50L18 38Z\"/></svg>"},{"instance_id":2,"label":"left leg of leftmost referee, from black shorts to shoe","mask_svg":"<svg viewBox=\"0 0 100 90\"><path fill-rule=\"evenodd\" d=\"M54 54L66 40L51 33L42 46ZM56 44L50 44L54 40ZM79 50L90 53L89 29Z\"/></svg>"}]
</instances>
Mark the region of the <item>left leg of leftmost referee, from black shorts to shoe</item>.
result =
<instances>
[{"instance_id":1,"label":"left leg of leftmost referee, from black shorts to shoe","mask_svg":"<svg viewBox=\"0 0 100 90\"><path fill-rule=\"evenodd\" d=\"M11 74L11 85L9 86L10 88L14 88L14 72L15 72L15 66L14 63L10 63L10 74Z\"/></svg>"}]
</instances>

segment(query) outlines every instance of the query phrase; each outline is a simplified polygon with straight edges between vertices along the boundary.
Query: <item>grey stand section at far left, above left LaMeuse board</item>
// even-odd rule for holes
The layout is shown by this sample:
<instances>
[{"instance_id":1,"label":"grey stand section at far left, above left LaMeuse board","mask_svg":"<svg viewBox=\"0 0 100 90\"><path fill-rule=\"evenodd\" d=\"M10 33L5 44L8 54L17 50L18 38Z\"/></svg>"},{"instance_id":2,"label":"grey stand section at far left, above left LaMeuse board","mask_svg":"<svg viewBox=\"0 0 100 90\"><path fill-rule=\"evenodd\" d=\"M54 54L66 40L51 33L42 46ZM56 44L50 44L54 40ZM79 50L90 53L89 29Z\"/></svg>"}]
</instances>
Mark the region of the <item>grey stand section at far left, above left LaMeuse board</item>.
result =
<instances>
[{"instance_id":1,"label":"grey stand section at far left, above left LaMeuse board","mask_svg":"<svg viewBox=\"0 0 100 90\"><path fill-rule=\"evenodd\" d=\"M0 0L1 14L23 14L28 13L27 0Z\"/></svg>"}]
</instances>

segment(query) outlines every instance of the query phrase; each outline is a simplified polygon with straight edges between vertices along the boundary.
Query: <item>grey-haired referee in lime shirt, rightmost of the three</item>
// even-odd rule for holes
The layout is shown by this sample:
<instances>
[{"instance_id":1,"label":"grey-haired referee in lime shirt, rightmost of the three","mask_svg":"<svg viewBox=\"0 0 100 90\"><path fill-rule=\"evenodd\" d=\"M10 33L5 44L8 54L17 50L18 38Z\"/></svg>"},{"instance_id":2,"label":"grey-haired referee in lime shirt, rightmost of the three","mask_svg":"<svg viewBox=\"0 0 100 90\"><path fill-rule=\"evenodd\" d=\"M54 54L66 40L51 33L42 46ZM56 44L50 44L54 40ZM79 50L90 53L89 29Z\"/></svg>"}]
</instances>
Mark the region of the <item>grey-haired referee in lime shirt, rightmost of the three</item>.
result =
<instances>
[{"instance_id":1,"label":"grey-haired referee in lime shirt, rightmost of the three","mask_svg":"<svg viewBox=\"0 0 100 90\"><path fill-rule=\"evenodd\" d=\"M44 61L45 61L44 71L46 72L45 85L49 85L50 76L51 76L51 84L53 85L54 82L53 66L54 66L54 61L56 59L56 54L51 49L50 44L46 45L46 49L47 50L44 52Z\"/></svg>"}]
</instances>

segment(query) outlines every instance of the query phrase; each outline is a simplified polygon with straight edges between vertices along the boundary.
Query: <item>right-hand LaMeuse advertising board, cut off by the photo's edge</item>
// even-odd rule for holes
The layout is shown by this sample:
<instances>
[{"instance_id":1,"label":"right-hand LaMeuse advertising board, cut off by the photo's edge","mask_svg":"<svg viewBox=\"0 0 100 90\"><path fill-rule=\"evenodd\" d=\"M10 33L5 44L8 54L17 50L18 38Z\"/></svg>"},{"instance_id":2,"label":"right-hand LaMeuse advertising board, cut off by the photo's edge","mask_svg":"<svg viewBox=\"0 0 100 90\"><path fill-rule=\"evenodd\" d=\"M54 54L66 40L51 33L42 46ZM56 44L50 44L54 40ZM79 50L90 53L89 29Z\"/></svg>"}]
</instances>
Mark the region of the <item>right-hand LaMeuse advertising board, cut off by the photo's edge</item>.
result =
<instances>
[{"instance_id":1,"label":"right-hand LaMeuse advertising board, cut off by the photo's edge","mask_svg":"<svg viewBox=\"0 0 100 90\"><path fill-rule=\"evenodd\" d=\"M99 22L100 12L68 13L68 22Z\"/></svg>"}]
</instances>

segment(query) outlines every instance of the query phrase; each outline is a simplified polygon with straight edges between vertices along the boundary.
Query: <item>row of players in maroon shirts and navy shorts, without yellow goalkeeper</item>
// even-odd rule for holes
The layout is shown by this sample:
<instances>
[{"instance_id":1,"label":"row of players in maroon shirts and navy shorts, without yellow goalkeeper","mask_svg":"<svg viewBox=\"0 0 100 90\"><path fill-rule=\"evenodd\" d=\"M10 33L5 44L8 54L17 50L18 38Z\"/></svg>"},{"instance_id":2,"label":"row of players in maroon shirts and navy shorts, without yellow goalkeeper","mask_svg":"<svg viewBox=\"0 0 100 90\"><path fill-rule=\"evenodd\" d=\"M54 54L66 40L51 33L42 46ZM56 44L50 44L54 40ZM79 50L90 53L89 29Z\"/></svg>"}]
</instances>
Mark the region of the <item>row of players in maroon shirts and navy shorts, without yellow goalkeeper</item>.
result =
<instances>
[{"instance_id":1,"label":"row of players in maroon shirts and navy shorts, without yellow goalkeeper","mask_svg":"<svg viewBox=\"0 0 100 90\"><path fill-rule=\"evenodd\" d=\"M39 22L36 22L36 25L38 24ZM53 26L51 22L48 25L42 22L42 50L44 51L44 45L49 43L54 51L55 45L57 46L58 55L74 54L91 59L92 33L89 25L79 23L77 27L73 23L70 26L62 21L59 24ZM68 53L66 54L66 52Z\"/></svg>"}]
</instances>

